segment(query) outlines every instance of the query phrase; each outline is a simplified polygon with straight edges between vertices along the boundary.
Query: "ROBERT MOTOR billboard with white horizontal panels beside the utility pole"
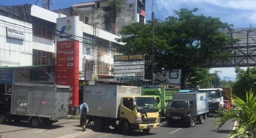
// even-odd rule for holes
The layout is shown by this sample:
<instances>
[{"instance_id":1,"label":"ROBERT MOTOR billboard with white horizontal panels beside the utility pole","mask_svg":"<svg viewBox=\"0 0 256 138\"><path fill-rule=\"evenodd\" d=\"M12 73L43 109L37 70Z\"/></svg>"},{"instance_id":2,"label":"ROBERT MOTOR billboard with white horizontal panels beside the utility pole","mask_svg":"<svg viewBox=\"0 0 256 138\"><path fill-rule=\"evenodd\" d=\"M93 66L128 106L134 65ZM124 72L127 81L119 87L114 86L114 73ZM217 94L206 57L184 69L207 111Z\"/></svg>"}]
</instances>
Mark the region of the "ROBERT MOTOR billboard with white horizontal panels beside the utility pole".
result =
<instances>
[{"instance_id":1,"label":"ROBERT MOTOR billboard with white horizontal panels beside the utility pole","mask_svg":"<svg viewBox=\"0 0 256 138\"><path fill-rule=\"evenodd\" d=\"M119 55L114 56L114 82L143 81L144 80L144 55Z\"/></svg>"}]
</instances>

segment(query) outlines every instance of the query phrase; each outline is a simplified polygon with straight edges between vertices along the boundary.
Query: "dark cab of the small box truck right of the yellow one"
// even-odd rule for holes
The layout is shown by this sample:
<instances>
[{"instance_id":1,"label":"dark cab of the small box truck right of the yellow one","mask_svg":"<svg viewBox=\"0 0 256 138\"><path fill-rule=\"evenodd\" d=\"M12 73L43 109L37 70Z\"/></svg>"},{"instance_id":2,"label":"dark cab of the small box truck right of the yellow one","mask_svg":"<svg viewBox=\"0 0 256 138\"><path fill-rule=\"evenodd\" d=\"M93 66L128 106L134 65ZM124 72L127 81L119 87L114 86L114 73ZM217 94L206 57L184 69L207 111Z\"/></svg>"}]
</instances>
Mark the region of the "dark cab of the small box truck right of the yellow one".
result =
<instances>
[{"instance_id":1,"label":"dark cab of the small box truck right of the yellow one","mask_svg":"<svg viewBox=\"0 0 256 138\"><path fill-rule=\"evenodd\" d=\"M192 100L172 100L167 105L166 121L169 126L175 122L187 123L191 127L196 124L196 109Z\"/></svg>"}]
</instances>

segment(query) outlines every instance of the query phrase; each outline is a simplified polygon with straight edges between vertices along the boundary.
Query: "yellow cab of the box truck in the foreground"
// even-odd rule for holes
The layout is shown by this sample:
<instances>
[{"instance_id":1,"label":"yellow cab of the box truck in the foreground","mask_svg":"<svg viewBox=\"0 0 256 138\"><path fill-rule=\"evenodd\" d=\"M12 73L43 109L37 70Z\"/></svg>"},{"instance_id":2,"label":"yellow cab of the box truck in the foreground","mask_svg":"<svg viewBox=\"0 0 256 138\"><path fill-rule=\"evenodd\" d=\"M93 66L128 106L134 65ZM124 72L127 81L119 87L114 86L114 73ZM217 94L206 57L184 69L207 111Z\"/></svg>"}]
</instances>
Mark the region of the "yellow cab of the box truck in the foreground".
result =
<instances>
[{"instance_id":1,"label":"yellow cab of the box truck in the foreground","mask_svg":"<svg viewBox=\"0 0 256 138\"><path fill-rule=\"evenodd\" d=\"M129 129L149 132L159 127L157 104L151 96L123 96L120 104L120 124L123 134Z\"/></svg>"}]
</instances>

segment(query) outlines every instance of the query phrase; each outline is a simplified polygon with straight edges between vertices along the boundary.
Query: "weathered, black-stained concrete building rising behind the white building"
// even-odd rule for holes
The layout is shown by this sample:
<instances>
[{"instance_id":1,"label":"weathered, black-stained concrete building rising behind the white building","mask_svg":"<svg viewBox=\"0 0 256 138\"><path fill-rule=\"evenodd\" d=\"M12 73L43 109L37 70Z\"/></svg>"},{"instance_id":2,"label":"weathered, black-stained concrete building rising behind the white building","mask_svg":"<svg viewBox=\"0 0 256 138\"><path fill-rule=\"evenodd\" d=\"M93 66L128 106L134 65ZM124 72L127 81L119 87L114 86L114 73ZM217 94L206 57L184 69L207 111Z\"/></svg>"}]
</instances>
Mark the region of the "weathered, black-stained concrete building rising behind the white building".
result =
<instances>
[{"instance_id":1,"label":"weathered, black-stained concrete building rising behind the white building","mask_svg":"<svg viewBox=\"0 0 256 138\"><path fill-rule=\"evenodd\" d=\"M54 10L67 16L77 15L79 20L96 28L117 34L123 25L145 23L145 0L120 0L121 10L111 7L108 0L77 3L70 8Z\"/></svg>"}]
</instances>

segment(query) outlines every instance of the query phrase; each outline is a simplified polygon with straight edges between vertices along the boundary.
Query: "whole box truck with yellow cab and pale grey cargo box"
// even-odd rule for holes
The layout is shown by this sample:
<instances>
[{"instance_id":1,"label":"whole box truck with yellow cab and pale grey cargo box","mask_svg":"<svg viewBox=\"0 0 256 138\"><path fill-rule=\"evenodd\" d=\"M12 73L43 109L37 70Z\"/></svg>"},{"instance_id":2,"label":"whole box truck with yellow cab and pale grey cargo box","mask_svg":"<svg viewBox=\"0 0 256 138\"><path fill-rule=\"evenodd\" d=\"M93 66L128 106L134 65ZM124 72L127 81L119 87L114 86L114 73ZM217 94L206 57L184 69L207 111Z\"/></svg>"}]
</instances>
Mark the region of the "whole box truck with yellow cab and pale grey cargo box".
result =
<instances>
[{"instance_id":1,"label":"whole box truck with yellow cab and pale grey cargo box","mask_svg":"<svg viewBox=\"0 0 256 138\"><path fill-rule=\"evenodd\" d=\"M97 131L112 126L127 135L130 130L148 133L159 127L156 102L151 96L141 96L141 87L84 86L83 101L89 107L87 119Z\"/></svg>"}]
</instances>

